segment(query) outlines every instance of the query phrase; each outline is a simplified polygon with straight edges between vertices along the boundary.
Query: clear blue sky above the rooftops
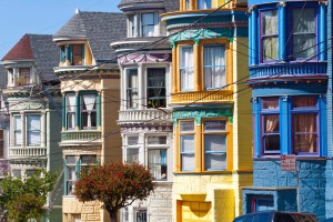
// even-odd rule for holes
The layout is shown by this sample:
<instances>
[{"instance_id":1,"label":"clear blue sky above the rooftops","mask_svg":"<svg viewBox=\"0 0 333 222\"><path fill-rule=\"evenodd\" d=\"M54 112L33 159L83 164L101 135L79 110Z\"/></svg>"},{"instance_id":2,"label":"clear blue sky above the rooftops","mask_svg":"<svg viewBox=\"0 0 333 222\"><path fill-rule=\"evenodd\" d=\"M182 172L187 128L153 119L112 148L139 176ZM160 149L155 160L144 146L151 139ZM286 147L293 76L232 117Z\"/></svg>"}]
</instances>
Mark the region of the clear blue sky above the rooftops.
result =
<instances>
[{"instance_id":1,"label":"clear blue sky above the rooftops","mask_svg":"<svg viewBox=\"0 0 333 222\"><path fill-rule=\"evenodd\" d=\"M121 0L0 0L0 60L26 33L53 34L81 11L120 12Z\"/></svg>"}]
</instances>

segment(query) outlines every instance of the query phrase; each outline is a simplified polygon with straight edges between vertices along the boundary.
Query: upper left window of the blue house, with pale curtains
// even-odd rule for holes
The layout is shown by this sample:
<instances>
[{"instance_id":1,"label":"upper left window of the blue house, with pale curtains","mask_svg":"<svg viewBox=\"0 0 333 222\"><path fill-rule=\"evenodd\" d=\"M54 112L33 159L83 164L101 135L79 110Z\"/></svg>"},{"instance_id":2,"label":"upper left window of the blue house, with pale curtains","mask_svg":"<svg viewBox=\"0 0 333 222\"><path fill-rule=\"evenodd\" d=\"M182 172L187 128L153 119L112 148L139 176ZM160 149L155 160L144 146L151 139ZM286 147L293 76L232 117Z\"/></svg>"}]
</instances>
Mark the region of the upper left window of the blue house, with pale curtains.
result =
<instances>
[{"instance_id":1,"label":"upper left window of the blue house, with pale curtains","mask_svg":"<svg viewBox=\"0 0 333 222\"><path fill-rule=\"evenodd\" d=\"M262 60L275 60L279 58L278 11L261 12L261 22Z\"/></svg>"}]
</instances>

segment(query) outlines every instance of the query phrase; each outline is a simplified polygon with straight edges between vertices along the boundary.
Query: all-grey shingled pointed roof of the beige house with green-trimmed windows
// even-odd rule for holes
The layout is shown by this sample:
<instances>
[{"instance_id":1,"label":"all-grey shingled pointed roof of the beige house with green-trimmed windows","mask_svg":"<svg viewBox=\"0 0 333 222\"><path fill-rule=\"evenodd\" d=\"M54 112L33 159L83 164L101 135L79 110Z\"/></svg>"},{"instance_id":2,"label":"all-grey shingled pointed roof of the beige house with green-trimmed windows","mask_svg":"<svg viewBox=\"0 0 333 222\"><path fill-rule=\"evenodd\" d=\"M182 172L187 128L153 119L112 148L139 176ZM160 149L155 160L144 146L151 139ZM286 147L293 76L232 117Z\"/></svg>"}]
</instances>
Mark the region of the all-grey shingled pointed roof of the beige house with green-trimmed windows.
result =
<instances>
[{"instance_id":1,"label":"all-grey shingled pointed roof of the beige house with green-trimmed windows","mask_svg":"<svg viewBox=\"0 0 333 222\"><path fill-rule=\"evenodd\" d=\"M87 38L92 56L99 63L115 58L110 43L124 37L127 37L127 18L123 13L81 11L75 13L53 39Z\"/></svg>"}]
</instances>

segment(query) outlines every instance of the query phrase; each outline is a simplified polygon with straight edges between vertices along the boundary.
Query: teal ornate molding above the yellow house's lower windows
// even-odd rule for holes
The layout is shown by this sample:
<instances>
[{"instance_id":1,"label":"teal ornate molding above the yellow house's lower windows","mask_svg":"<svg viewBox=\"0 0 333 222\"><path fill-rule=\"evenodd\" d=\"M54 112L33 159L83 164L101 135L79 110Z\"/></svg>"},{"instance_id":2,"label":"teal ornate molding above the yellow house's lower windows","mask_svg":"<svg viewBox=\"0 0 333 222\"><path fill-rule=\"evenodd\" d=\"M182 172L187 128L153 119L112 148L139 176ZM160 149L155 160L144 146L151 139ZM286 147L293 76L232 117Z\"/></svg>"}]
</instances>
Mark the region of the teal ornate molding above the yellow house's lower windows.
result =
<instances>
[{"instance_id":1,"label":"teal ornate molding above the yellow house's lower windows","mask_svg":"<svg viewBox=\"0 0 333 222\"><path fill-rule=\"evenodd\" d=\"M201 124L203 118L232 118L233 113L231 109L203 109L203 110L182 110L173 111L173 124L178 124L179 119L194 119L196 124ZM229 121L232 119L229 119Z\"/></svg>"}]
</instances>

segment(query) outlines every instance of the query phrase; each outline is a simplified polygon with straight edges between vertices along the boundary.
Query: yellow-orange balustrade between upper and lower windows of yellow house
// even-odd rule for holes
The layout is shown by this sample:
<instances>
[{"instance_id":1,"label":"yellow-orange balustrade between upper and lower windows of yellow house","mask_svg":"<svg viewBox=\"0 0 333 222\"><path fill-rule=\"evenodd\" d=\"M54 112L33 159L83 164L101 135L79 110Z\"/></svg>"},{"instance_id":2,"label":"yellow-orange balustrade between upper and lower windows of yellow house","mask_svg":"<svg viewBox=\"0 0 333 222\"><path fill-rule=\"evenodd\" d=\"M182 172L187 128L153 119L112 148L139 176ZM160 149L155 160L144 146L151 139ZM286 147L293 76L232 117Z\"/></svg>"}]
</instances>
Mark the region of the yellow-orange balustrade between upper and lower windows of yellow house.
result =
<instances>
[{"instance_id":1,"label":"yellow-orange balustrade between upper and lower windows of yellow house","mask_svg":"<svg viewBox=\"0 0 333 222\"><path fill-rule=\"evenodd\" d=\"M171 94L172 104L211 103L233 101L232 90L179 92Z\"/></svg>"}]
</instances>

